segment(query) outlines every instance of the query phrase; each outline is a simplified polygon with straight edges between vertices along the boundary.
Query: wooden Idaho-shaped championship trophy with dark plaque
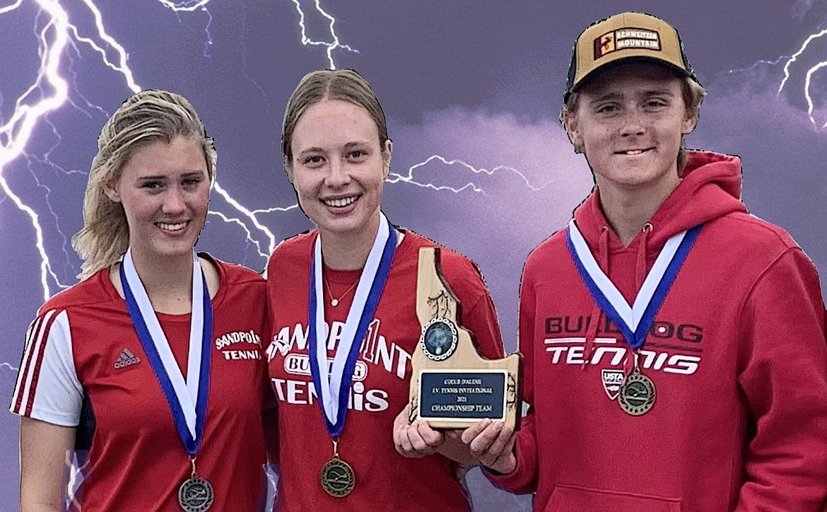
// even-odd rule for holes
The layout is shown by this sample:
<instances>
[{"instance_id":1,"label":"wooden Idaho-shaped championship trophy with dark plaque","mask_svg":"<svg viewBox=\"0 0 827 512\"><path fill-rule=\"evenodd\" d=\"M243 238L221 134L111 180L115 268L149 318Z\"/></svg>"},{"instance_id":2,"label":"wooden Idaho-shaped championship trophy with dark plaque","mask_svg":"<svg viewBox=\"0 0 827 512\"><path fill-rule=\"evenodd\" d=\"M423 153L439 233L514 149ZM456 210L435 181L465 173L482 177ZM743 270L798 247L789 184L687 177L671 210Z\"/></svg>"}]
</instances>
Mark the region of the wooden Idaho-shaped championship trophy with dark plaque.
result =
<instances>
[{"instance_id":1,"label":"wooden Idaho-shaped championship trophy with dark plaque","mask_svg":"<svg viewBox=\"0 0 827 512\"><path fill-rule=\"evenodd\" d=\"M422 333L411 358L410 420L461 429L488 418L518 428L522 356L486 359L476 351L439 270L438 247L419 249L417 316Z\"/></svg>"}]
</instances>

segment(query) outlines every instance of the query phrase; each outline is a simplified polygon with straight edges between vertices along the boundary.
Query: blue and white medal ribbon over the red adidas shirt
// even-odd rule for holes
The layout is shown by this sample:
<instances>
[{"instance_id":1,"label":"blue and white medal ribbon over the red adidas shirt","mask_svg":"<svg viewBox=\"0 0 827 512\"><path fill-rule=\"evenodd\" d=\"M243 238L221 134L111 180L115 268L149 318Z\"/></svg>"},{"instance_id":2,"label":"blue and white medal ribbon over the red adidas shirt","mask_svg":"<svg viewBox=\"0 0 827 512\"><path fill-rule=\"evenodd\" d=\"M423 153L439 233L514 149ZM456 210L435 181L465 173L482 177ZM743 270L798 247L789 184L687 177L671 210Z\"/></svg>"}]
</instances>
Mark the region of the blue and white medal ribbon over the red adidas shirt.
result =
<instances>
[{"instance_id":1,"label":"blue and white medal ribbon over the red adidas shirt","mask_svg":"<svg viewBox=\"0 0 827 512\"><path fill-rule=\"evenodd\" d=\"M198 453L207 417L210 375L210 338L213 335L213 304L209 299L198 256L193 253L193 307L189 321L187 378L175 361L146 289L138 277L131 250L123 256L121 284L127 310L135 326L152 371L170 405L179 438L191 457Z\"/></svg>"}]
</instances>

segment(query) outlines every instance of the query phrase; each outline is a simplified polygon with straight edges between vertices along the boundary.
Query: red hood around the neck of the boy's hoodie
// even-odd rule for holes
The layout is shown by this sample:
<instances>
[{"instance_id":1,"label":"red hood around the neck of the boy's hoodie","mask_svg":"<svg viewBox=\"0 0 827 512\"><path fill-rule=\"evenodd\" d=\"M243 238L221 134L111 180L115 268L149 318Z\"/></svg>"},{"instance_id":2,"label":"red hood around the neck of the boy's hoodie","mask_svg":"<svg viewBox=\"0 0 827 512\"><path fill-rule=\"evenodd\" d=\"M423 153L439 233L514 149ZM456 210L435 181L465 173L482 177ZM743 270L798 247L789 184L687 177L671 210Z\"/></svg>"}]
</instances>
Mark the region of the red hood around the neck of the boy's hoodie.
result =
<instances>
[{"instance_id":1,"label":"red hood around the neck of the boy's hoodie","mask_svg":"<svg viewBox=\"0 0 827 512\"><path fill-rule=\"evenodd\" d=\"M647 252L657 254L672 235L728 213L747 212L741 201L741 159L711 151L687 151L681 183L649 220L652 229L645 237ZM574 213L577 227L590 246L599 245L601 232L608 231L608 249L623 248L609 227L595 189ZM635 245L637 240L632 242Z\"/></svg>"}]
</instances>

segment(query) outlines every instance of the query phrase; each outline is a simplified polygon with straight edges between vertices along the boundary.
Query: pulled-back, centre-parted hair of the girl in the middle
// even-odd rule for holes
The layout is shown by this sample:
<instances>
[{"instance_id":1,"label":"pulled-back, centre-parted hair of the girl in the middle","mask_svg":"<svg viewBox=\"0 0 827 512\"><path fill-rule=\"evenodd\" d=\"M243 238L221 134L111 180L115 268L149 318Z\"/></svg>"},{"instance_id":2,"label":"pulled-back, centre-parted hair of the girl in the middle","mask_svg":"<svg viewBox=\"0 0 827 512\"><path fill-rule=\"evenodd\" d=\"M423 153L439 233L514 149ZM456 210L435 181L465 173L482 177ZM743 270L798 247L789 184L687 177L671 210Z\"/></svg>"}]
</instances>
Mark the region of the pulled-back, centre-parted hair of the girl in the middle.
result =
<instances>
[{"instance_id":1,"label":"pulled-back, centre-parted hair of the girl in the middle","mask_svg":"<svg viewBox=\"0 0 827 512\"><path fill-rule=\"evenodd\" d=\"M304 75L299 85L290 94L287 108L284 109L284 122L281 127L281 154L284 155L284 172L292 183L291 170L293 162L293 132L299 117L314 103L323 99L340 99L365 108L376 123L379 132L380 148L385 149L388 141L388 123L385 121L385 111L379 103L379 98L370 84L356 72L356 69L317 69Z\"/></svg>"}]
</instances>

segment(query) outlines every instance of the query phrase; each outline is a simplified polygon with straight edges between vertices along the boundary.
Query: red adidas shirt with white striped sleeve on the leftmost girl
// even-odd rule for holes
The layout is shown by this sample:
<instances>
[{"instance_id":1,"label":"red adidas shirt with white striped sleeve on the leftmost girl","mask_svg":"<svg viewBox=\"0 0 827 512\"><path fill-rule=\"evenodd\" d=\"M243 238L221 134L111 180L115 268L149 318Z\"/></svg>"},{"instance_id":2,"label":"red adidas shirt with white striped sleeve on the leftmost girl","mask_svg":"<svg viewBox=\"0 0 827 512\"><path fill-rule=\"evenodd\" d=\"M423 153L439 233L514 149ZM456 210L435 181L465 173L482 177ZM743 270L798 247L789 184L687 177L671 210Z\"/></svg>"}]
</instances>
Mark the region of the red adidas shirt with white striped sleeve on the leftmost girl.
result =
<instances>
[{"instance_id":1,"label":"red adidas shirt with white striped sleeve on the leftmost girl","mask_svg":"<svg viewBox=\"0 0 827 512\"><path fill-rule=\"evenodd\" d=\"M265 282L242 266L214 263L220 285L213 298L210 393L197 469L213 484L212 510L255 510L265 490ZM190 315L156 314L186 376ZM26 335L10 409L78 427L84 437L84 404L94 422L91 465L79 498L84 512L179 510L189 456L108 269L40 309Z\"/></svg>"}]
</instances>

